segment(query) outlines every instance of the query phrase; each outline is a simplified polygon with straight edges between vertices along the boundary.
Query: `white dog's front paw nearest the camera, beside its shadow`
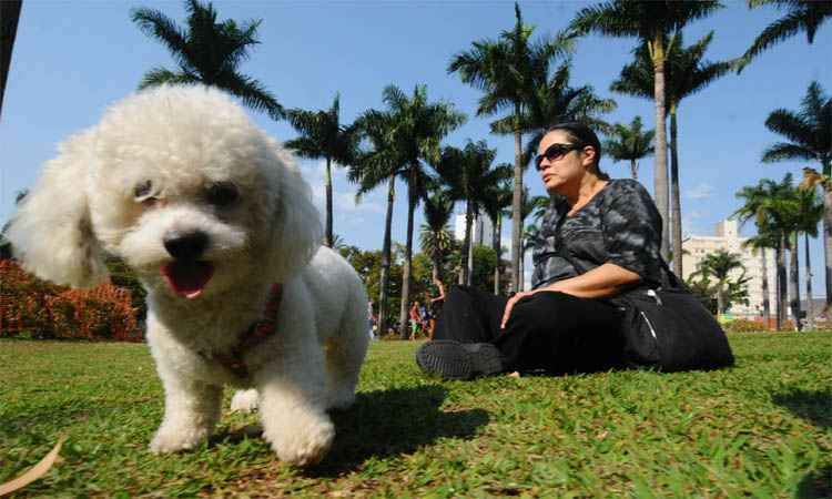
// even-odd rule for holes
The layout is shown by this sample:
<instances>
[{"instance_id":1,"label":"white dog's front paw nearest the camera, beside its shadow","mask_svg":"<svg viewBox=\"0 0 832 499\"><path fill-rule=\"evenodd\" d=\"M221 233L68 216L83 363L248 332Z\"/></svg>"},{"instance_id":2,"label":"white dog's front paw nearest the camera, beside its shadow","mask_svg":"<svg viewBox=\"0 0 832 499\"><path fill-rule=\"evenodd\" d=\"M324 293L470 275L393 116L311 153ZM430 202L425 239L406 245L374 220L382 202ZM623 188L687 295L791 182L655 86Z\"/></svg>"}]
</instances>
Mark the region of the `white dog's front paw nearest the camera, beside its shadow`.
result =
<instances>
[{"instance_id":1,"label":"white dog's front paw nearest the camera, beside its shadow","mask_svg":"<svg viewBox=\"0 0 832 499\"><path fill-rule=\"evenodd\" d=\"M335 427L328 418L316 418L305 425L291 425L264 434L277 457L294 466L321 461L332 447Z\"/></svg>"}]
</instances>

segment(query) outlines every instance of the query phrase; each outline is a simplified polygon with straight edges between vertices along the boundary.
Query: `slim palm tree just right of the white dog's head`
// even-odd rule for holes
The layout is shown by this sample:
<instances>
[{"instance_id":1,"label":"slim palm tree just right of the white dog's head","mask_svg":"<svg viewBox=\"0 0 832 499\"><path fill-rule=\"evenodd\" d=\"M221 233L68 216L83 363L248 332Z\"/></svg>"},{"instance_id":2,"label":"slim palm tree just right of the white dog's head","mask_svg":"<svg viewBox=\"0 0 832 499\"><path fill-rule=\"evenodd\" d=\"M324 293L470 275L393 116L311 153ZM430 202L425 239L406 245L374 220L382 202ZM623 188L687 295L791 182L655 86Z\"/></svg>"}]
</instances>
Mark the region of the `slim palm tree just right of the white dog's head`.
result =
<instances>
[{"instance_id":1,"label":"slim palm tree just right of the white dog's head","mask_svg":"<svg viewBox=\"0 0 832 499\"><path fill-rule=\"evenodd\" d=\"M301 134L300 138L287 141L285 146L294 150L298 155L312 160L326 160L326 233L324 244L333 247L333 207L332 207L332 163L348 166L356 161L358 142L362 139L361 129L355 124L341 124L341 99L335 100L328 110L304 111L291 109L286 111L286 119Z\"/></svg>"}]
</instances>

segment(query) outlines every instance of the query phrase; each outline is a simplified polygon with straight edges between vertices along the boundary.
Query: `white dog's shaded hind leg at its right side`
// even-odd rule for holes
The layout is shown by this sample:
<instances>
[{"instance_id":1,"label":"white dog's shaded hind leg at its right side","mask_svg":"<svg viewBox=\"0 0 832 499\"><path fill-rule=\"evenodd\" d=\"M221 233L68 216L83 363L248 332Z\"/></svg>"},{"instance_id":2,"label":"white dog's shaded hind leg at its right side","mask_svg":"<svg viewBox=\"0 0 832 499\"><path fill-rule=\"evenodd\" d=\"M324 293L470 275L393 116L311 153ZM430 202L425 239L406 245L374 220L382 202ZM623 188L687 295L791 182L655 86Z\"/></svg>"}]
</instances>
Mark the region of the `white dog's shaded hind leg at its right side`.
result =
<instances>
[{"instance_id":1,"label":"white dog's shaded hind leg at its right side","mask_svg":"<svg viewBox=\"0 0 832 499\"><path fill-rule=\"evenodd\" d=\"M327 409L344 409L355 401L364 357L369 344L369 318L364 291L355 289L339 330L326 343Z\"/></svg>"}]
</instances>

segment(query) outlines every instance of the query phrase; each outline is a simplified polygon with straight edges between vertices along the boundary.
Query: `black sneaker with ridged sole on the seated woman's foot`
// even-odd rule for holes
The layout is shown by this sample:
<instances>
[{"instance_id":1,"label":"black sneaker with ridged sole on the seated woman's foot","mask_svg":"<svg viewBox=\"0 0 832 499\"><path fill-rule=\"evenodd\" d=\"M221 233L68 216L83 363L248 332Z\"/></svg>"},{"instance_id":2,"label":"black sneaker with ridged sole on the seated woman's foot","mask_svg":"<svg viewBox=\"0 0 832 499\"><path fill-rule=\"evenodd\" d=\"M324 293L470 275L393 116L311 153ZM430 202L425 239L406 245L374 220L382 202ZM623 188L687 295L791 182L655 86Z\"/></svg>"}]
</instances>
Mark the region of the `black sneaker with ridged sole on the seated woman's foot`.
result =
<instances>
[{"instance_id":1,"label":"black sneaker with ridged sole on the seated woman's foot","mask_svg":"<svg viewBox=\"0 0 832 499\"><path fill-rule=\"evenodd\" d=\"M443 379L470 379L503 371L500 353L490 343L428 342L416 350L423 371Z\"/></svg>"}]
</instances>

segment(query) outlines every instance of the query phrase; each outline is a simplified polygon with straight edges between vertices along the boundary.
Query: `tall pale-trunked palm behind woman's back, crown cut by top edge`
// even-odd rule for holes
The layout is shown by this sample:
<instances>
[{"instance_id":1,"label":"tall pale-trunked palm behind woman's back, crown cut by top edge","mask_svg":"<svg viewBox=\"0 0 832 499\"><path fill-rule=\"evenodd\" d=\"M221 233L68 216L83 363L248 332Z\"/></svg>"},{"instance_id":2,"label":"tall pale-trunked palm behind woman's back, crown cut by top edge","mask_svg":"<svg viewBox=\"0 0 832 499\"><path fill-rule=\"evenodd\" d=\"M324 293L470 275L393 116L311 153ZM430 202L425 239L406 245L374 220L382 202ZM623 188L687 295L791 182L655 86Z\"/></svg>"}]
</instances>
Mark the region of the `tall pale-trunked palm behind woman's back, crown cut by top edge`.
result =
<instances>
[{"instance_id":1,"label":"tall pale-trunked palm behind woman's back, crown cut by top edge","mask_svg":"<svg viewBox=\"0 0 832 499\"><path fill-rule=\"evenodd\" d=\"M697 0L612 0L581 9L570 23L577 34L595 32L608 37L638 38L650 53L653 68L653 101L656 102L656 167L653 195L662 218L662 254L667 256L668 231L668 165L666 124L666 40L689 22L704 18L722 6L718 1ZM676 248L681 254L681 248Z\"/></svg>"}]
</instances>

